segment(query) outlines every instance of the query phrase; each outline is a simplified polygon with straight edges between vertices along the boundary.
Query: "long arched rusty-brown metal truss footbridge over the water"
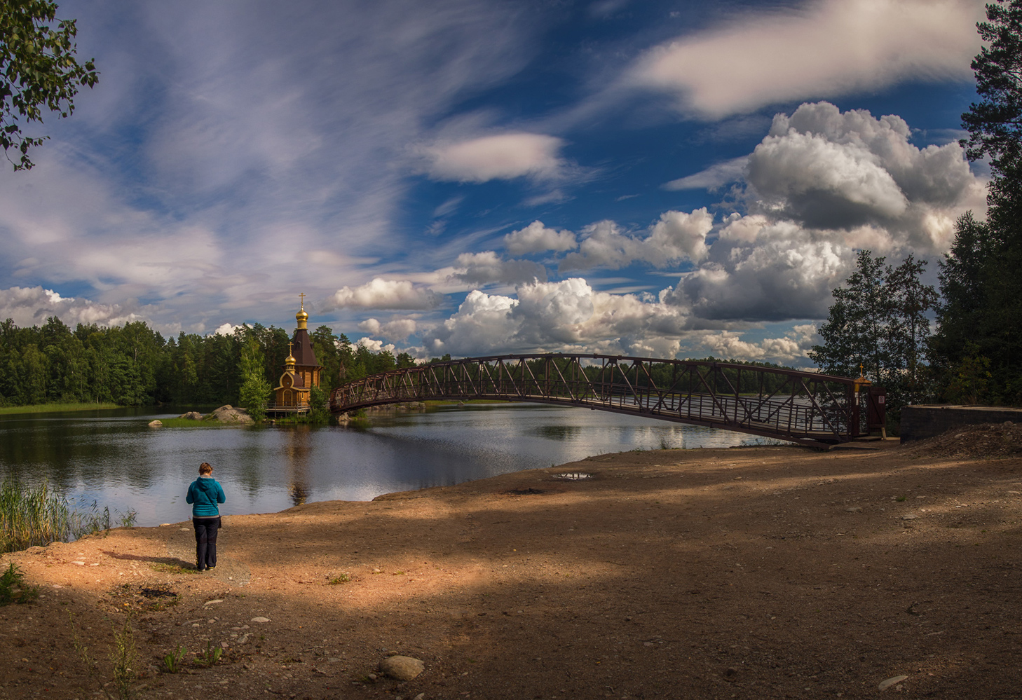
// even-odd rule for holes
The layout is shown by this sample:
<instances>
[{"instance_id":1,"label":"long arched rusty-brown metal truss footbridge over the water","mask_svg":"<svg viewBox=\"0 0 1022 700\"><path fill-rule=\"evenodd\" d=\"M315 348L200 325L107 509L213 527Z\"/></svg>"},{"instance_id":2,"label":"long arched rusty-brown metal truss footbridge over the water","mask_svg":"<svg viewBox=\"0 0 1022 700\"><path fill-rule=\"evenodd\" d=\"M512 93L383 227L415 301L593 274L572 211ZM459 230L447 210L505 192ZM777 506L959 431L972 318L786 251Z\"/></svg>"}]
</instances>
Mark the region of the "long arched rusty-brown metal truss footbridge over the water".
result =
<instances>
[{"instance_id":1,"label":"long arched rusty-brown metal truss footbridge over the water","mask_svg":"<svg viewBox=\"0 0 1022 700\"><path fill-rule=\"evenodd\" d=\"M855 380L846 377L722 362L506 355L419 365L351 381L333 390L330 410L442 399L562 404L820 447L853 439L883 424L883 399L872 400L867 425L857 389Z\"/></svg>"}]
</instances>

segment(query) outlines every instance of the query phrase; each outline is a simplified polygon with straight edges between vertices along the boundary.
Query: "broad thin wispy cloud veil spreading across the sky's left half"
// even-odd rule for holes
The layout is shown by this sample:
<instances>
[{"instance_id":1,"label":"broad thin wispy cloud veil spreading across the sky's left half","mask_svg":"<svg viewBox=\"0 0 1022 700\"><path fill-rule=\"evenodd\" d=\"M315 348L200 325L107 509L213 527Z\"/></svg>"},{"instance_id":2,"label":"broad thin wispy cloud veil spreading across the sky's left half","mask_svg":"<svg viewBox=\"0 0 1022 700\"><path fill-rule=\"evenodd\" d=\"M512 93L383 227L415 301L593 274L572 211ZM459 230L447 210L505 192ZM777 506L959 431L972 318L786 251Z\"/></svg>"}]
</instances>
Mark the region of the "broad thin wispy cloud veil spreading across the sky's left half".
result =
<instances>
[{"instance_id":1,"label":"broad thin wispy cloud veil spreading across the sky's left half","mask_svg":"<svg viewBox=\"0 0 1022 700\"><path fill-rule=\"evenodd\" d=\"M0 269L153 299L161 327L286 319L292 292L383 275L356 277L407 242L409 145L537 50L535 15L477 0L77 11L103 77L36 169L0 169Z\"/></svg>"}]
</instances>

